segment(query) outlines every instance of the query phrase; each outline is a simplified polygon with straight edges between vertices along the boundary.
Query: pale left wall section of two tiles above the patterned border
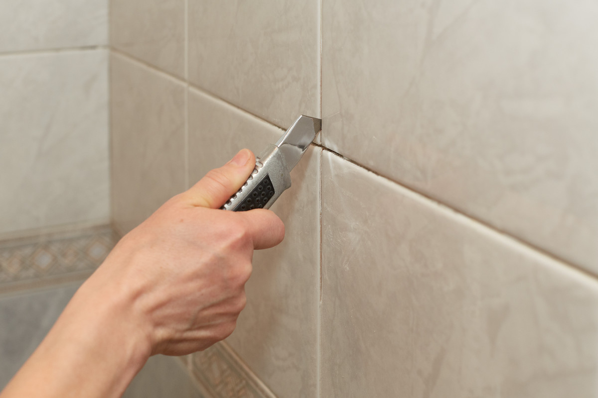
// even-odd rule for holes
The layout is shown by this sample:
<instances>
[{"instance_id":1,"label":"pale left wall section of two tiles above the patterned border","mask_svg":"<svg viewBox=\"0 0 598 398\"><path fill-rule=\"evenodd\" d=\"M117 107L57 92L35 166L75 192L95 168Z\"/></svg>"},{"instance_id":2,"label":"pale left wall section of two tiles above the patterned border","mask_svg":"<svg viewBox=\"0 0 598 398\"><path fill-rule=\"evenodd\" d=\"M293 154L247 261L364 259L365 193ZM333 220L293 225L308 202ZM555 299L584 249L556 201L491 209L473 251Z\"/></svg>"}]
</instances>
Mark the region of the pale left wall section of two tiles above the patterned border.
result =
<instances>
[{"instance_id":1,"label":"pale left wall section of two tiles above the patterned border","mask_svg":"<svg viewBox=\"0 0 598 398\"><path fill-rule=\"evenodd\" d=\"M109 220L108 4L0 4L0 239Z\"/></svg>"}]
</instances>

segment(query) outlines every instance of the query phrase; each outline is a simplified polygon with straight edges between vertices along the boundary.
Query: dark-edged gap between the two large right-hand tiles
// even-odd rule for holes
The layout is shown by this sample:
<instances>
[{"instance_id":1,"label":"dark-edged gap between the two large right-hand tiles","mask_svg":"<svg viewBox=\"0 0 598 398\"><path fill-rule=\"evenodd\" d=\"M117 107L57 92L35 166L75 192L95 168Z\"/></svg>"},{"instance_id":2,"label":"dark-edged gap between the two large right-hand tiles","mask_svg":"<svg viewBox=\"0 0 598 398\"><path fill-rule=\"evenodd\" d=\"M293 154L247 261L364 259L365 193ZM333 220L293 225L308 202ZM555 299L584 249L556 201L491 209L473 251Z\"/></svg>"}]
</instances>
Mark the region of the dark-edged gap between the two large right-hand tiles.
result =
<instances>
[{"instance_id":1,"label":"dark-edged gap between the two large right-hand tiles","mask_svg":"<svg viewBox=\"0 0 598 398\"><path fill-rule=\"evenodd\" d=\"M320 144L313 143L313 145L321 147L323 150L327 151L328 153L331 153L332 155L337 156L337 158L341 158L341 159L343 159L343 161L347 161L349 163L352 163L355 166L358 166L361 169L364 169L367 172L371 172L372 174L376 175L377 177L385 179L389 183L396 184L396 186L401 187L401 189L408 192L415 199L424 200L429 205L435 206L436 208L440 209L441 211L452 214L454 217L461 218L463 220L463 222L471 224L470 226L475 227L476 229L480 230L481 233L490 233L490 234L494 235L496 239L502 240L510 245L514 245L520 249L525 249L526 251L529 251L530 254L532 254L532 255L537 255L537 256L543 257L545 260L550 260L553 263L558 264L560 267L563 267L571 272L576 273L579 277L583 277L585 279L590 279L591 282L593 282L593 283L598 283L597 275L591 273L590 271L584 269L581 266L578 266L577 264L570 263L568 260L565 260L564 258L561 258L557 255L550 253L550 252L547 252L544 249L542 249L536 245L533 245L532 243L529 243L526 240L521 239L520 237L510 235L509 233L507 233L501 229L498 229L490 224L487 224L483 220L480 220L476 217L473 217L472 215L469 215L465 212L462 212L455 208L452 208L451 206L447 205L446 203L439 202L437 199L432 198L431 196L428 196L425 193L411 189L411 187L405 186L404 184L402 184L398 181L392 180L392 178L389 178L384 174L380 174L377 171L367 168L364 165L361 165L360 163L353 161L353 159L347 158L346 156L342 155L341 153L334 152L334 150L328 149L327 147L322 146Z\"/></svg>"}]
</instances>

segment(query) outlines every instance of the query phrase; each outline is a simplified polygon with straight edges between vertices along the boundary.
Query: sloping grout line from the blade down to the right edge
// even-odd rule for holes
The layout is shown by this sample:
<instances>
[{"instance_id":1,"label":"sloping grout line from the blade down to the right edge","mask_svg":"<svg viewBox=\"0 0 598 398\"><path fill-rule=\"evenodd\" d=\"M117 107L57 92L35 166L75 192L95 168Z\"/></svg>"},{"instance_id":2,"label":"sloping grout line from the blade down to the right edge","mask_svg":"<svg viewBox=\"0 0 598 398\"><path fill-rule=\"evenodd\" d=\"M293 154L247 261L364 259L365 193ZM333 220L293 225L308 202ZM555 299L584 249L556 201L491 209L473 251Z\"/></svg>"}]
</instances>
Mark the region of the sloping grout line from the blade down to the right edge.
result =
<instances>
[{"instance_id":1,"label":"sloping grout line from the blade down to the right edge","mask_svg":"<svg viewBox=\"0 0 598 398\"><path fill-rule=\"evenodd\" d=\"M488 224L484 220L481 220L480 218L474 217L466 212L463 212L463 211L460 211L459 209L453 208L452 206L449 206L444 202L440 202L438 199L435 199L432 196L426 195L423 192L414 190L413 188L406 186L405 184L400 183L399 181L395 181L392 178L389 178L384 174L380 174L380 172L374 171L373 169L370 169L364 165L361 165L358 162L353 161L353 159L347 158L346 156L342 155L341 153L335 152L334 150L329 149L320 144L316 144L316 143L312 143L312 144L315 146L321 147L323 150L331 153L334 156L337 156L338 158L343 159L344 161L352 163L353 165L358 166L359 168L362 168L365 171L368 171L374 175L377 175L377 177L384 178L385 180L389 181L390 183L396 184L396 185L402 187L403 189L408 190L409 192L413 193L414 195L420 196L421 198L427 200L428 202L432 202L435 205L440 206L441 208L443 208L445 210L454 212L455 214L460 215L461 217L464 217L464 218L470 220L472 223L477 224L479 227L489 230L489 232L496 233L497 235L503 237L504 239L510 240L511 243L521 245L530 251L536 252L537 254L542 255L543 257L547 257L551 261L554 261L555 263L558 263L563 267L566 267L573 271L577 271L578 273L581 273L582 276L589 277L591 280L598 283L598 276L596 274L592 273L591 271L588 271L587 269L585 269L582 266L579 266L578 264L570 263L568 260L565 260L565 258L559 257L558 255L555 255L551 252L545 251L545 249L543 249L539 246L536 246L533 243L527 242L527 240L521 239L518 236L511 235L510 233L508 233L504 230L498 229L495 226L493 226L492 224Z\"/></svg>"}]
</instances>

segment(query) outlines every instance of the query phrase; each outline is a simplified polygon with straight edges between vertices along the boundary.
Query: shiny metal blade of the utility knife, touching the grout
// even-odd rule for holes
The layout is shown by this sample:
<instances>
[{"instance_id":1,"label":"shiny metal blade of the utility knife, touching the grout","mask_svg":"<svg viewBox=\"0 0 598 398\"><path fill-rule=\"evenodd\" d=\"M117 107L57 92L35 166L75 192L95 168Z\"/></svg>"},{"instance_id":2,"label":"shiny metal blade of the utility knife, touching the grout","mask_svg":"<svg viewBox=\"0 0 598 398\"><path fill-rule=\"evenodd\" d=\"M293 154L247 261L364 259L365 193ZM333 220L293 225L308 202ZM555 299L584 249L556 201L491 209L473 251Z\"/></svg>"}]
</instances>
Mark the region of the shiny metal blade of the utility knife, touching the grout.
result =
<instances>
[{"instance_id":1,"label":"shiny metal blade of the utility knife, touching the grout","mask_svg":"<svg viewBox=\"0 0 598 398\"><path fill-rule=\"evenodd\" d=\"M306 152L316 134L322 128L322 120L301 115L280 137L276 146L285 158L286 168L291 171Z\"/></svg>"}]
</instances>

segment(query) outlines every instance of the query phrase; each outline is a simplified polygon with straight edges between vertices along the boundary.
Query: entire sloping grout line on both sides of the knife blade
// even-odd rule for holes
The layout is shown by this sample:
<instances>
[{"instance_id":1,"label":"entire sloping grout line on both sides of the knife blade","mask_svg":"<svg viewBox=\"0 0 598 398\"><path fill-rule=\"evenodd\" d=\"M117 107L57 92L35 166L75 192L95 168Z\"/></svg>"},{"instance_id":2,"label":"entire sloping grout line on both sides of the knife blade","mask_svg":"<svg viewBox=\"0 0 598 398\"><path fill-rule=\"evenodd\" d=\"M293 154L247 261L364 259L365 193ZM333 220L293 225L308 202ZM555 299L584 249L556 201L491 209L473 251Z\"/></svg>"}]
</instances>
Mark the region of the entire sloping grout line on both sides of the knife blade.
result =
<instances>
[{"instance_id":1,"label":"entire sloping grout line on both sides of the knife blade","mask_svg":"<svg viewBox=\"0 0 598 398\"><path fill-rule=\"evenodd\" d=\"M269 124L269 125L271 125L273 127L284 129L283 127L280 127L280 126L278 126L276 124L273 124L272 122L267 121L266 119L263 119L263 118L261 118L258 115L255 115L254 113L248 112L247 110L245 110L245 109L243 109L243 108L241 108L241 107L239 107L239 106L237 106L235 104L232 104L232 103L228 102L227 100L224 100L221 97L218 97L218 95L215 95L212 92L206 91L205 89L203 89L201 87L198 87L198 86L196 86L194 84L191 84L188 81L187 82L182 81L181 78L179 78L178 76L172 75L171 73L165 72L164 70L161 70L161 69L159 69L158 67L155 67L152 64L149 64L149 63L147 63L145 61L139 60L138 58L134 57L133 55L130 55L130 54L127 54L127 53L123 53L123 52L121 52L119 50L115 50L115 49L113 49L113 51L115 51L118 54L123 55L124 57L128 57L128 58L130 58L130 59L132 59L134 61L137 61L138 63L141 63L144 66L149 67L152 70L155 70L157 72L163 73L164 75L167 75L170 78L176 79L176 81L181 82L182 84L188 85L188 87L190 87L191 89L197 90L197 91L201 92L202 94L205 94L205 95L207 95L210 98L213 98L214 100L220 101L220 102L222 102L222 103L224 103L224 104L226 104L226 105L228 105L230 107L233 107L234 109L237 109L240 112L245 113L246 115L253 116L254 118L258 119L258 121L264 122L264 123ZM570 269L576 270L579 273L583 274L584 276L590 277L595 282L598 282L598 276L596 274L591 273L590 271L586 270L582 266L579 266L578 264L570 263L568 260L565 260L565 258L559 257L556 254L548 252L545 249L543 249L543 248L541 248L539 246L536 246L533 243L527 242L526 240L521 239L518 236L511 235L510 233L508 233L508 232L506 232L504 230L498 229L495 226L492 226L492 224L489 224L486 221L481 220L480 218L477 218L477 217L475 217L475 216L473 216L471 214L468 214L466 212L460 211L459 209L453 208L452 206L447 205L447 203L440 202L438 199L435 199L434 197L429 196L426 193L420 192L419 190L413 189L413 187L406 186L404 183L401 183L400 181L393 180L392 178L388 177L387 175L384 175L384 174L381 174L380 172L374 171L373 169L370 169L367 166L364 166L361 163L358 163L358 162L354 161L353 159L347 158L346 156L342 155L341 153L335 152L334 150L329 149L328 147L325 147L324 144L319 144L319 143L312 143L312 144L315 145L315 146L317 146L317 147L321 147L324 150L327 150L328 152L332 153L335 156L338 156L339 158L344 159L345 161L353 163L353 165L356 165L359 168L362 168L362 169L364 169L366 171L369 171L369 172L371 172L371 173L373 173L373 174L375 174L375 175L377 175L379 177L385 178L385 180L388 180L388 181L390 181L390 182L392 182L394 184L397 184L398 186L401 186L404 189L407 189L410 192L413 192L413 193L421 196L422 198L425 198L425 199L429 200L430 202L436 203L437 205L439 205L439 206L441 206L441 207L443 207L445 209L453 211L456 214L462 215L463 217L468 218L469 220L473 221L474 223L478 224L479 226L482 226L482 227L486 228L487 230L495 232L498 235L507 237L508 239L511 239L513 242L518 243L518 244L526 247L527 249L530 249L530 250L532 250L534 252L537 252L538 254L544 255L544 257L550 258L551 260L556 261L557 263L562 264L562 266L569 267Z\"/></svg>"}]
</instances>

